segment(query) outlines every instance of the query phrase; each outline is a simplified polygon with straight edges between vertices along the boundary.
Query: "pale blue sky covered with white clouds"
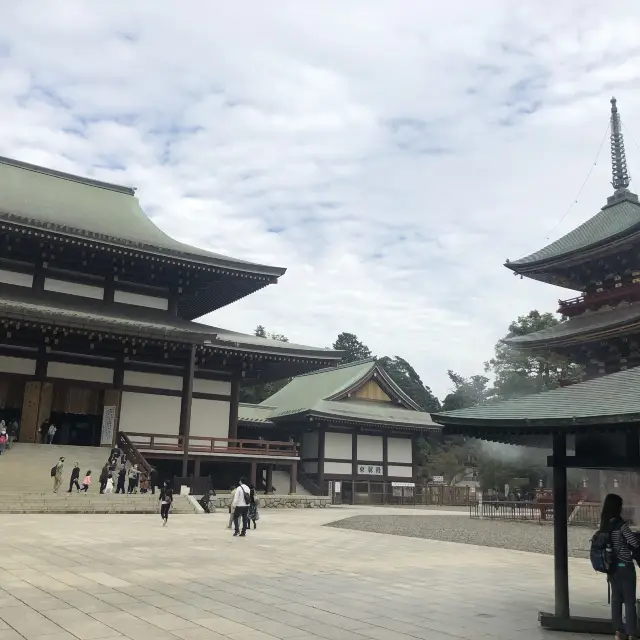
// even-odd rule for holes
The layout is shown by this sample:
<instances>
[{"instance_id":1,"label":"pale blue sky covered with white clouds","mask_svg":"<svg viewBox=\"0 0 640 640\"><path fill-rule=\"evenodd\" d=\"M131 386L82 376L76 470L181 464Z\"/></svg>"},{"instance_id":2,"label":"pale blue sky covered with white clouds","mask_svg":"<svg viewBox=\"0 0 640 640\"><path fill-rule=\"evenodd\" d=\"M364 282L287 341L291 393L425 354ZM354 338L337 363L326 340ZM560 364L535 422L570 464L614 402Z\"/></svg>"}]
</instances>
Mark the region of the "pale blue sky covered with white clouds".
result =
<instances>
[{"instance_id":1,"label":"pale blue sky covered with white clouds","mask_svg":"<svg viewBox=\"0 0 640 640\"><path fill-rule=\"evenodd\" d=\"M287 267L204 321L355 333L442 398L576 295L503 263L605 204L612 95L640 180L639 20L629 0L5 2L0 154Z\"/></svg>"}]
</instances>

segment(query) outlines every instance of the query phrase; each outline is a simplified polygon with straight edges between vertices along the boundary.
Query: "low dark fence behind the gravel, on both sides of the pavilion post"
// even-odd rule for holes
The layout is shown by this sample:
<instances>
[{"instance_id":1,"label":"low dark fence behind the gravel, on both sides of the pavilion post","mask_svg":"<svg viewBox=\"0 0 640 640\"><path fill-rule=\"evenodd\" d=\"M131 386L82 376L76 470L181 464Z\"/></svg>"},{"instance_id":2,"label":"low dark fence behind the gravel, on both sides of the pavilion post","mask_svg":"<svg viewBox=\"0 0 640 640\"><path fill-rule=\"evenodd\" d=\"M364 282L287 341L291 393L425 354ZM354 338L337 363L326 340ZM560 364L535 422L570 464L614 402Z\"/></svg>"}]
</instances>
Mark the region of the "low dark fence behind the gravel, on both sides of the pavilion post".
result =
<instances>
[{"instance_id":1,"label":"low dark fence behind the gravel, on both sides of the pavilion post","mask_svg":"<svg viewBox=\"0 0 640 640\"><path fill-rule=\"evenodd\" d=\"M567 507L569 524L597 526L600 522L598 504L579 502ZM486 520L519 520L534 522L553 522L553 504L539 502L477 502L469 504L469 515L472 518Z\"/></svg>"}]
</instances>

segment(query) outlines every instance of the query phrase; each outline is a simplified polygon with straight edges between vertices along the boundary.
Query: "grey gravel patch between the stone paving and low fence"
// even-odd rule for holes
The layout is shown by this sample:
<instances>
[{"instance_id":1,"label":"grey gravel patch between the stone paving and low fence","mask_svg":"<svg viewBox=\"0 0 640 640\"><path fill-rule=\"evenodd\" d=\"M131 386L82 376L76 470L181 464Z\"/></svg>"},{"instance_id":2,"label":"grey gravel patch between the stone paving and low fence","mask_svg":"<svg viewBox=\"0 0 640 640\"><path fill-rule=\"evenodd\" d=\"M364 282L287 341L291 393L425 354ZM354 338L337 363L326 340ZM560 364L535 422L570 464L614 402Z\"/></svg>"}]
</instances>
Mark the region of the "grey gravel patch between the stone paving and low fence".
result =
<instances>
[{"instance_id":1,"label":"grey gravel patch between the stone paving and low fence","mask_svg":"<svg viewBox=\"0 0 640 640\"><path fill-rule=\"evenodd\" d=\"M553 554L553 526L537 522L476 520L464 516L373 515L353 516L327 526ZM592 535L593 531L587 527L569 527L569 555L574 558L588 558Z\"/></svg>"}]
</instances>

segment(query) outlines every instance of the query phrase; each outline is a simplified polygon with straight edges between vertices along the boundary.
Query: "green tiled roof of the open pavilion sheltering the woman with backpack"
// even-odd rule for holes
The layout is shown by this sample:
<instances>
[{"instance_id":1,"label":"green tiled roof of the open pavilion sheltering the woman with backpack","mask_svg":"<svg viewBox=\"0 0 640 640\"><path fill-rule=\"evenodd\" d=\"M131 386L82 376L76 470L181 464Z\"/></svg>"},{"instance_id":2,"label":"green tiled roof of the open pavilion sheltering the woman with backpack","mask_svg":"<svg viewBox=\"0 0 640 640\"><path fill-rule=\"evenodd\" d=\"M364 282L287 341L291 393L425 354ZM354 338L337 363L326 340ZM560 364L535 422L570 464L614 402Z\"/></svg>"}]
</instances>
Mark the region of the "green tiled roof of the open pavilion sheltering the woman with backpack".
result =
<instances>
[{"instance_id":1,"label":"green tiled roof of the open pavilion sheltering the woman with backpack","mask_svg":"<svg viewBox=\"0 0 640 640\"><path fill-rule=\"evenodd\" d=\"M543 393L434 413L444 425L461 425L465 433L492 427L579 426L640 422L640 367Z\"/></svg>"}]
</instances>

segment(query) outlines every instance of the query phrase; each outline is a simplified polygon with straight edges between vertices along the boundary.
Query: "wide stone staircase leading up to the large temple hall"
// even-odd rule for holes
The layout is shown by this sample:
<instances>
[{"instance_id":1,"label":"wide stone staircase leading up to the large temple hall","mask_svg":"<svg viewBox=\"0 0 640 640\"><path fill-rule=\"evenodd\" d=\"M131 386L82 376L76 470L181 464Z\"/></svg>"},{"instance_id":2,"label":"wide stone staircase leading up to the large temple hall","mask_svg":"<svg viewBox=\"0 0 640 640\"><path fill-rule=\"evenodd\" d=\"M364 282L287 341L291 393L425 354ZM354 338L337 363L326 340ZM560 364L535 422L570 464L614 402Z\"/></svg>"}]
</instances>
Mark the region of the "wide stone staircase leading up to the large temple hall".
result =
<instances>
[{"instance_id":1,"label":"wide stone staircase leading up to the large temple hall","mask_svg":"<svg viewBox=\"0 0 640 640\"><path fill-rule=\"evenodd\" d=\"M100 447L69 447L15 443L0 456L0 513L157 513L158 495L100 495L98 478L109 455ZM65 458L62 486L53 493L51 467ZM86 494L67 493L74 464L80 482L91 470L93 484ZM176 496L174 513L196 513L186 496Z\"/></svg>"}]
</instances>

